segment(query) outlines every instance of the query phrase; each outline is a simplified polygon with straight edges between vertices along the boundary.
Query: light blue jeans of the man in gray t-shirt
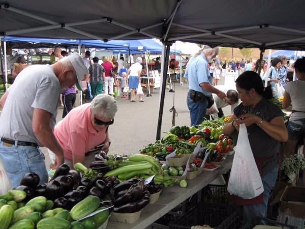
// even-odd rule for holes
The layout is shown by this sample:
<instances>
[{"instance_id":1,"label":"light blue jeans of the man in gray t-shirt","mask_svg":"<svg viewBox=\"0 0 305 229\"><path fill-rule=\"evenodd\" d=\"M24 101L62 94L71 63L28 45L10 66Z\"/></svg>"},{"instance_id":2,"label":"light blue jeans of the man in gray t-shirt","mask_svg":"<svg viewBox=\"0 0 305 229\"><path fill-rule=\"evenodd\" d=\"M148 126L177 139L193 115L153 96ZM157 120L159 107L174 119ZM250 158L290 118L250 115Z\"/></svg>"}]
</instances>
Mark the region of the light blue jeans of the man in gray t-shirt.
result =
<instances>
[{"instance_id":1,"label":"light blue jeans of the man in gray t-shirt","mask_svg":"<svg viewBox=\"0 0 305 229\"><path fill-rule=\"evenodd\" d=\"M4 146L0 141L0 159L12 181L13 187L17 187L24 174L34 172L40 177L40 184L48 181L48 173L43 153L36 147Z\"/></svg>"}]
</instances>

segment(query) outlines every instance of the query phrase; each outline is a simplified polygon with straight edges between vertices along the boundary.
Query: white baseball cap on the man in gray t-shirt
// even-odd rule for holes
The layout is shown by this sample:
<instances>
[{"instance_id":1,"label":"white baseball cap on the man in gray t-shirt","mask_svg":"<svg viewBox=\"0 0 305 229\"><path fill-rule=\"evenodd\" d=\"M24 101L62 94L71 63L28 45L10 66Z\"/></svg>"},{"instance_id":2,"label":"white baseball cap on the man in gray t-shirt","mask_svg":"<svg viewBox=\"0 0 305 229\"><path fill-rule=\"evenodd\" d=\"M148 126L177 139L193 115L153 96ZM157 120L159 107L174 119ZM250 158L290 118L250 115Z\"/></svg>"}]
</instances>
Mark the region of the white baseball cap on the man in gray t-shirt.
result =
<instances>
[{"instance_id":1,"label":"white baseball cap on the man in gray t-shirt","mask_svg":"<svg viewBox=\"0 0 305 229\"><path fill-rule=\"evenodd\" d=\"M76 87L78 90L81 91L82 90L81 81L85 78L85 76L87 74L89 74L89 71L88 71L87 67L84 65L84 62L78 53L74 52L74 53L68 55L68 58L76 72L76 76L77 76Z\"/></svg>"}]
</instances>

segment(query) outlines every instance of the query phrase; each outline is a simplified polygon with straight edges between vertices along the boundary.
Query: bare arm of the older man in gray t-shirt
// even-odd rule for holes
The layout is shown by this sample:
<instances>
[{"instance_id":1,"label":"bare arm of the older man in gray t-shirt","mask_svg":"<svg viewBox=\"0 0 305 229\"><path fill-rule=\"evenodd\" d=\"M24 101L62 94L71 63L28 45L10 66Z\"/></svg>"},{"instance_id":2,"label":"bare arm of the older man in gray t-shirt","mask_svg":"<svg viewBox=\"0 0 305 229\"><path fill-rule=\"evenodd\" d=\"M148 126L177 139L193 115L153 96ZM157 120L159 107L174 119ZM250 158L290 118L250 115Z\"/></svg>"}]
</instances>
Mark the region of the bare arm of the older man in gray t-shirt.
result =
<instances>
[{"instance_id":1,"label":"bare arm of the older man in gray t-shirt","mask_svg":"<svg viewBox=\"0 0 305 229\"><path fill-rule=\"evenodd\" d=\"M46 110L34 108L32 128L41 144L56 155L54 168L64 163L64 151L56 140L50 127L52 115Z\"/></svg>"}]
</instances>

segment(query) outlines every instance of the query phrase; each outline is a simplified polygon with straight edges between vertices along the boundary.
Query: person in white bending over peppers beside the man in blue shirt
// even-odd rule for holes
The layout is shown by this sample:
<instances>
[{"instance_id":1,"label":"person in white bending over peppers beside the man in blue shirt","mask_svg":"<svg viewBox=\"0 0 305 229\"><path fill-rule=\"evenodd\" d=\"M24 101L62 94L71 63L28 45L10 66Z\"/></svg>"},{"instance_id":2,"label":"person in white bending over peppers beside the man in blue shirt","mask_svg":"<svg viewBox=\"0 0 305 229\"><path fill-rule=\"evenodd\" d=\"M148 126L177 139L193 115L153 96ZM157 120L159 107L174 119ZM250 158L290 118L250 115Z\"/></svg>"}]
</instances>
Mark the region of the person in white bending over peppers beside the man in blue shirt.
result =
<instances>
[{"instance_id":1,"label":"person in white bending over peppers beside the man in blue shirt","mask_svg":"<svg viewBox=\"0 0 305 229\"><path fill-rule=\"evenodd\" d=\"M222 108L231 105L231 113L233 113L235 107L238 105L238 93L235 90L226 89L224 85L215 86L218 90L222 91L227 97L221 99L216 94L212 94L214 98L214 104L206 110L206 118L209 119L210 115L213 119L224 116Z\"/></svg>"}]
</instances>

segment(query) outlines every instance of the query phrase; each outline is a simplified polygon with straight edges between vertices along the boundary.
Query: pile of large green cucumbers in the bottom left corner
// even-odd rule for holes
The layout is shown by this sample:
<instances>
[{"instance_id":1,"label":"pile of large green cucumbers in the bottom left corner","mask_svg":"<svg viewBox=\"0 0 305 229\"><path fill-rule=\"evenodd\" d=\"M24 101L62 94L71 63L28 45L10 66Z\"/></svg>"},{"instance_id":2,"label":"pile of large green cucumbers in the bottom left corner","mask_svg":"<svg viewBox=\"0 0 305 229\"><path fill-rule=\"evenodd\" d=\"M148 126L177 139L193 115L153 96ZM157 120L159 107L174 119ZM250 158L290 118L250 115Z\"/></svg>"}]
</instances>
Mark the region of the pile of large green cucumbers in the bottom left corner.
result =
<instances>
[{"instance_id":1,"label":"pile of large green cucumbers in the bottom left corner","mask_svg":"<svg viewBox=\"0 0 305 229\"><path fill-rule=\"evenodd\" d=\"M111 212L111 208L103 206L97 196L87 196L70 212L63 208L52 209L52 201L48 201L44 196L37 196L27 203L23 202L25 197L26 193L20 190L11 190L0 196L0 228L97 229L108 219ZM105 210L82 219L103 209Z\"/></svg>"}]
</instances>

